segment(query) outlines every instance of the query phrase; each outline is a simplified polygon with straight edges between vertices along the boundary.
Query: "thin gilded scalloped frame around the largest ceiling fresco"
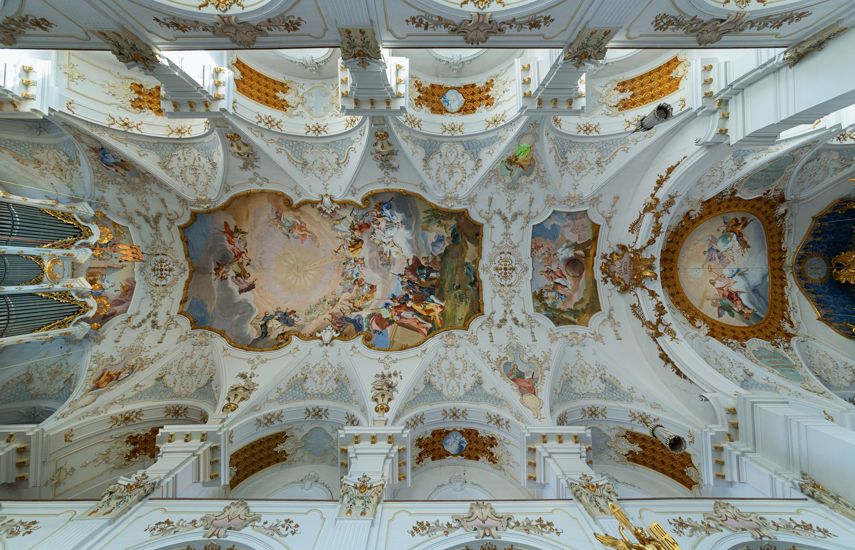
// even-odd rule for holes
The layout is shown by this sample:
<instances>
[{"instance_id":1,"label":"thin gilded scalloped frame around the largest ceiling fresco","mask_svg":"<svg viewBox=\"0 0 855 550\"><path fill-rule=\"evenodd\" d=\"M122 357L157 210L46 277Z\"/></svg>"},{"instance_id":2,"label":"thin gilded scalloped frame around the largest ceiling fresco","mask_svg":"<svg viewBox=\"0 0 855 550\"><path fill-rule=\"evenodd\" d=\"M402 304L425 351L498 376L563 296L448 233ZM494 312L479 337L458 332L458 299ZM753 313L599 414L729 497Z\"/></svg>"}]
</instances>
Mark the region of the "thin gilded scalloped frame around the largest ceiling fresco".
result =
<instances>
[{"instance_id":1,"label":"thin gilded scalloped frame around the largest ceiling fresco","mask_svg":"<svg viewBox=\"0 0 855 550\"><path fill-rule=\"evenodd\" d=\"M478 305L479 305L480 311L478 313L476 313L475 315L473 315L471 318L469 318L469 320L466 321L463 324L463 326L460 326L460 327L444 327L444 328L437 330L433 334L428 334L428 337L425 338L424 340L422 340L421 342L419 342L418 344L407 344L407 345L404 345L401 347L396 347L394 349L389 349L389 348L385 348L385 347L375 347L375 346L369 344L368 340L371 337L371 334L367 330L362 330L360 332L357 332L357 334L353 334L351 336L342 335L342 336L333 337L333 340L341 340L341 341L345 341L345 342L351 341L351 340L356 340L357 338L361 337L363 340L363 346L368 347L369 349L383 351L383 352L400 352L400 351L410 349L413 347L422 346L423 344L427 343L428 340L432 339L434 336L437 336L438 334L442 334L442 333L449 331L449 330L469 330L469 325L473 321L475 321L475 319L484 315L484 284L483 284L483 281L481 280L481 272L479 271L479 268L478 268L478 265L481 264L481 260L483 259L483 255L484 255L484 242L483 242L484 241L484 224L480 223L480 222L476 222L475 220L473 220L472 217L469 216L468 210L466 210L465 208L457 209L457 210L450 209L450 208L443 208L442 206L439 206L437 204L433 204L427 198L422 197L422 195L420 195L418 193L405 191L404 189L377 189L375 191L369 191L363 195L363 202L362 203L357 203L356 201L348 199L348 198L342 198L340 200L335 200L334 203L339 204L339 205L350 204L352 206L356 206L357 208L368 208L369 204L371 204L369 201L370 197L373 197L374 195L379 195L382 193L390 193L390 192L391 193L399 193L402 195L410 195L412 197L418 198L418 199L424 201L425 203L430 204L430 206L432 208L435 208L437 210L441 210L443 212L449 212L451 214L463 213L464 216L469 218L469 222L472 222L474 225L476 225L476 226L478 226L478 228L480 228L479 232L478 232L479 257L478 257L478 262L475 265L475 279L478 281ZM184 257L187 261L187 268L190 271L189 275L187 275L186 281L184 281L184 290L181 293L181 300L179 302L180 308L182 308L187 302L187 289L190 287L190 281L192 281L193 273L196 270L193 267L193 262L192 262L192 259L190 258L190 253L187 250L187 238L184 234L184 229L189 227L190 224L192 224L192 222L195 222L197 220L197 214L209 214L211 212L216 212L218 210L225 210L230 204L233 203L233 201L235 199L237 199L239 197L245 197L245 196L251 195L253 193L267 193L267 194L273 194L273 195L279 196L284 200L286 207L291 209L291 210L297 210L298 208L301 208L307 204L314 204L315 206L317 206L318 204L322 203L321 199L304 199L304 200L299 201L297 204L292 204L291 197L289 197L284 192L274 191L272 189L252 189L251 191L235 193L234 195L229 197L226 200L226 202L224 202L220 206L216 206L215 208L211 208L209 210L191 210L190 211L190 218L185 223L178 226L179 233L181 235L181 244L184 246ZM218 328L207 327L207 326L197 326L196 325L196 318L194 316L190 315L189 313L186 313L186 311L179 310L178 314L181 316L185 316L190 321L190 326L192 329L209 330L210 332L213 332L215 334L219 334L223 339L225 339L228 342L229 346L233 346L233 347L236 347L238 349L246 350L247 352L270 352L270 351L282 349L283 347L286 347L286 346L291 344L292 337L294 337L294 336L296 336L299 340L304 340L304 341L310 341L310 340L321 340L321 342L323 341L323 338L320 335L307 335L307 334L299 333L296 330L289 330L285 334L285 341L282 342L279 346L264 347L264 348L250 347L250 346L246 346L246 345L235 344L232 341L232 339L228 337L228 334L226 334L224 331L222 331Z\"/></svg>"}]
</instances>

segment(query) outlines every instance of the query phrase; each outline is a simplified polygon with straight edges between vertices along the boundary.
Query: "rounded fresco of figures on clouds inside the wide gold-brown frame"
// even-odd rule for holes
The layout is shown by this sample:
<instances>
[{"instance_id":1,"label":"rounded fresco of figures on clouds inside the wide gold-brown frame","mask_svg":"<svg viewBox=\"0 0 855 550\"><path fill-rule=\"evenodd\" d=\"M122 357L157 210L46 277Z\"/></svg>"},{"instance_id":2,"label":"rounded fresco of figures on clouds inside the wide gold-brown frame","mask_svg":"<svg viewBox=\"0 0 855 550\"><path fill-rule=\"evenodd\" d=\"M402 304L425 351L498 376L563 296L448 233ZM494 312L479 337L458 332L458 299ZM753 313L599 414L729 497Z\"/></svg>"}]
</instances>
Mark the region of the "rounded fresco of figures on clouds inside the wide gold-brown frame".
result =
<instances>
[{"instance_id":1,"label":"rounded fresco of figures on clouds inside the wide gold-brown frame","mask_svg":"<svg viewBox=\"0 0 855 550\"><path fill-rule=\"evenodd\" d=\"M752 326L769 311L769 252L763 222L731 211L701 222L677 258L677 276L689 302L728 325Z\"/></svg>"}]
</instances>

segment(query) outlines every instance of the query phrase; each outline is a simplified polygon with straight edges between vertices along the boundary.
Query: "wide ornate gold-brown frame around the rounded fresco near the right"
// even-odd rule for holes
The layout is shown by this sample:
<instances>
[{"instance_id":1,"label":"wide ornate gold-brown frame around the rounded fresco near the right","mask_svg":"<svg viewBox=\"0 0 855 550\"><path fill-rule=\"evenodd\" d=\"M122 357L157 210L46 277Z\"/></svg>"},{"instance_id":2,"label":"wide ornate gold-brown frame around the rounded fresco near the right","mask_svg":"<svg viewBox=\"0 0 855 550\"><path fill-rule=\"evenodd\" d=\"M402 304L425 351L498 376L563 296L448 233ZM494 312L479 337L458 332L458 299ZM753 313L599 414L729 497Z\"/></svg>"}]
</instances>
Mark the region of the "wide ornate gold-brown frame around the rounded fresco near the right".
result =
<instances>
[{"instance_id":1,"label":"wide ornate gold-brown frame around the rounded fresco near the right","mask_svg":"<svg viewBox=\"0 0 855 550\"><path fill-rule=\"evenodd\" d=\"M792 327L790 317L790 296L787 293L787 279L783 275L784 263L787 260L783 223L775 210L783 202L783 198L770 200L765 197L741 198L730 191L719 193L706 200L701 210L704 215L691 219L689 213L683 215L681 222L666 236L665 245L660 257L660 273L663 290L668 293L671 304L679 308L688 322L698 326L697 321L704 322L709 328L709 335L716 340L735 340L741 344L752 338L769 342L783 339L788 340L789 334L784 328ZM689 234L701 223L712 217L721 216L728 212L744 211L757 216L763 222L766 234L766 248L769 257L769 310L763 320L752 326L735 326L717 321L706 316L683 293L677 275L677 262L680 251Z\"/></svg>"}]
</instances>

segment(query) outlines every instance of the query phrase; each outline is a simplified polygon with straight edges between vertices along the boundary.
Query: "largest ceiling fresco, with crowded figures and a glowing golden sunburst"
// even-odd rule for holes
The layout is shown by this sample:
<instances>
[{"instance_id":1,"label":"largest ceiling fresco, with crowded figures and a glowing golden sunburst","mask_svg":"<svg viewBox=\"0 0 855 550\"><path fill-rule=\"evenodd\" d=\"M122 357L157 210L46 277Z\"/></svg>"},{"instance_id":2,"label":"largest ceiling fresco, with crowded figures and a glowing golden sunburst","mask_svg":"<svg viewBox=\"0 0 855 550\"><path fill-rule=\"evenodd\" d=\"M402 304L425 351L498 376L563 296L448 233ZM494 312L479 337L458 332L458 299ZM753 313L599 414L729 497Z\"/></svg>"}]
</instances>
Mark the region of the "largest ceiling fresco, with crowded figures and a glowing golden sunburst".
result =
<instances>
[{"instance_id":1,"label":"largest ceiling fresco, with crowded figures and a glowing golden sunburst","mask_svg":"<svg viewBox=\"0 0 855 550\"><path fill-rule=\"evenodd\" d=\"M193 212L181 235L192 268L181 313L245 349L327 327L402 349L465 329L483 310L481 224L404 192L328 210L247 192Z\"/></svg>"}]
</instances>

